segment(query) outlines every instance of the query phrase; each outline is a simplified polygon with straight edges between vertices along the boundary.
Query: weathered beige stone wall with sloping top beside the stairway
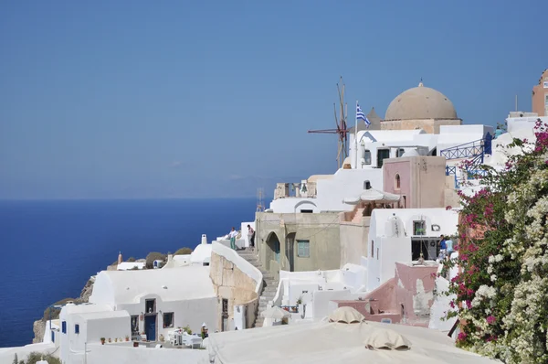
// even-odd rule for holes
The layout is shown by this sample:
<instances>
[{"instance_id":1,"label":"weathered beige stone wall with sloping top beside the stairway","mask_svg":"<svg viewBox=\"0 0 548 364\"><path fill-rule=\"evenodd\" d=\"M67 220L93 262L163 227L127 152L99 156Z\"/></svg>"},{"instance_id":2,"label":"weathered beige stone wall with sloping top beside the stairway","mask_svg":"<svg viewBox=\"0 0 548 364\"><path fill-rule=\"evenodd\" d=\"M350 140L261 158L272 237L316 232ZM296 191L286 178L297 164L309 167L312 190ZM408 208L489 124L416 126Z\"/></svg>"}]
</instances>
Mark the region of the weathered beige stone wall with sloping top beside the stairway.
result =
<instances>
[{"instance_id":1,"label":"weathered beige stone wall with sloping top beside the stairway","mask_svg":"<svg viewBox=\"0 0 548 364\"><path fill-rule=\"evenodd\" d=\"M210 267L210 277L216 290L218 299L217 305L217 324L219 331L222 329L223 321L223 299L228 303L228 328L234 327L234 306L247 306L247 327L252 327L255 323L258 307L258 294L256 292L257 282L242 272L237 264L230 262L224 256L212 252ZM225 330L228 329L227 327Z\"/></svg>"}]
</instances>

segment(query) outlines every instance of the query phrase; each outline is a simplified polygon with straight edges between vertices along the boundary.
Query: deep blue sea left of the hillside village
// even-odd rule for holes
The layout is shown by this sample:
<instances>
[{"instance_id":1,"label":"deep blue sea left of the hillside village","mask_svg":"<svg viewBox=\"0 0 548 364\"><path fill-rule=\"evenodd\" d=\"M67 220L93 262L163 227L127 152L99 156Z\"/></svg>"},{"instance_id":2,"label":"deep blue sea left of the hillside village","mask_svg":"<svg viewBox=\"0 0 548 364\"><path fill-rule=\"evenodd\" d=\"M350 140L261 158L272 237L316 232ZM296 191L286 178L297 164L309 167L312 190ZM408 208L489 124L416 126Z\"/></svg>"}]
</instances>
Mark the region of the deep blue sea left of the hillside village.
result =
<instances>
[{"instance_id":1,"label":"deep blue sea left of the hillside village","mask_svg":"<svg viewBox=\"0 0 548 364\"><path fill-rule=\"evenodd\" d=\"M0 200L0 347L32 342L47 305L118 259L194 248L253 220L256 200Z\"/></svg>"}]
</instances>

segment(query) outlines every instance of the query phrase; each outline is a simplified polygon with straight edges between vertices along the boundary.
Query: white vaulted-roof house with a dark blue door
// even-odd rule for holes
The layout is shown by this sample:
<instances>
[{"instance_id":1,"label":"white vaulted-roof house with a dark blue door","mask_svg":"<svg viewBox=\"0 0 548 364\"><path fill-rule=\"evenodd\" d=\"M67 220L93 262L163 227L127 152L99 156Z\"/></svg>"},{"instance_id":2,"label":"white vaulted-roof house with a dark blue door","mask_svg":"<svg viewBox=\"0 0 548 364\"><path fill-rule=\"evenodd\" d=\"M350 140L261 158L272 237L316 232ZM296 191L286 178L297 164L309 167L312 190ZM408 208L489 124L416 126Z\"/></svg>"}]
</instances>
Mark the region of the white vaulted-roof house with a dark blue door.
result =
<instances>
[{"instance_id":1,"label":"white vaulted-roof house with a dark blue door","mask_svg":"<svg viewBox=\"0 0 548 364\"><path fill-rule=\"evenodd\" d=\"M216 293L209 267L202 265L100 272L90 303L127 311L132 337L151 341L167 337L174 327L199 331L202 323L216 322Z\"/></svg>"}]
</instances>

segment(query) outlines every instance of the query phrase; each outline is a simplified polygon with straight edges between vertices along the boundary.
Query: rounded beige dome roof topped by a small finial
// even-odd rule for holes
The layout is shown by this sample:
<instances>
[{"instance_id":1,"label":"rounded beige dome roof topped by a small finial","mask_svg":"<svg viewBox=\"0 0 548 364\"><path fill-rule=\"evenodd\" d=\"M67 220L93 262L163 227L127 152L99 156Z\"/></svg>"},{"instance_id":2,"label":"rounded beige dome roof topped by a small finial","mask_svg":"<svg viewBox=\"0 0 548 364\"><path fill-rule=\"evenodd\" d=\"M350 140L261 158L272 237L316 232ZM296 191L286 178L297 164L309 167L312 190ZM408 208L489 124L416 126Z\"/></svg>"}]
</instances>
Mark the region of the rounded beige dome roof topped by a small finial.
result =
<instances>
[{"instance_id":1,"label":"rounded beige dome roof topped by a small finial","mask_svg":"<svg viewBox=\"0 0 548 364\"><path fill-rule=\"evenodd\" d=\"M447 96L423 86L404 91L390 102L385 120L458 119L457 112Z\"/></svg>"}]
</instances>

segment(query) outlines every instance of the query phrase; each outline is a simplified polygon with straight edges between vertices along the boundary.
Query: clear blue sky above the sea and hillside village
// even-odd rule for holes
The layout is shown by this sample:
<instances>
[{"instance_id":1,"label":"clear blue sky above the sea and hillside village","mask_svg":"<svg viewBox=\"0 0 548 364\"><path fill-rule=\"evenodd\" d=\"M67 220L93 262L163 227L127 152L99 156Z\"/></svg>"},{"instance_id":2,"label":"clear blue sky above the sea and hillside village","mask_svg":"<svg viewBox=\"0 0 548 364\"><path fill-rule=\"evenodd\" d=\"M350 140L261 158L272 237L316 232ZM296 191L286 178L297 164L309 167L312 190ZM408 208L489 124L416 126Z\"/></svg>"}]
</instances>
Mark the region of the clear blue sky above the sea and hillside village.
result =
<instances>
[{"instance_id":1,"label":"clear blue sky above the sea and hillside village","mask_svg":"<svg viewBox=\"0 0 548 364\"><path fill-rule=\"evenodd\" d=\"M334 126L341 75L349 104L381 116L422 77L465 123L494 125L516 94L531 110L546 14L546 0L0 2L0 198L271 195L332 173L335 136L307 130Z\"/></svg>"}]
</instances>

